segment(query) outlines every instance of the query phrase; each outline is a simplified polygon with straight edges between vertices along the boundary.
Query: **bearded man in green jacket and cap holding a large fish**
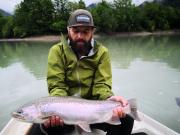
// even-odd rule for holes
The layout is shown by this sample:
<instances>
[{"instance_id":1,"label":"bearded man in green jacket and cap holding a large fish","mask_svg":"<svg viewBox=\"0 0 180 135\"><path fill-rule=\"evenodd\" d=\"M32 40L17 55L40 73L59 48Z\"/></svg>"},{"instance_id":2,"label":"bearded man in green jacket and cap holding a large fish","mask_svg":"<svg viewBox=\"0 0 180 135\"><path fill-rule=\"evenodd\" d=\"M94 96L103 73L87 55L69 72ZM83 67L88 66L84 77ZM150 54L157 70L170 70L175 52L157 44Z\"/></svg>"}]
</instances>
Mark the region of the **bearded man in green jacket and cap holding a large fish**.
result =
<instances>
[{"instance_id":1,"label":"bearded man in green jacket and cap holding a large fish","mask_svg":"<svg viewBox=\"0 0 180 135\"><path fill-rule=\"evenodd\" d=\"M125 98L114 96L111 90L109 52L94 40L95 26L91 13L83 9L74 11L69 18L67 30L68 38L62 39L49 51L47 83L50 96L111 99L121 102L124 107L128 105ZM97 123L91 127L102 129L107 135L130 135L134 120L125 114L122 107L113 110L113 117L119 117L121 124ZM64 124L60 116L52 116L44 126L47 131L52 127L59 127L58 130L63 132L72 129L72 126Z\"/></svg>"}]
</instances>

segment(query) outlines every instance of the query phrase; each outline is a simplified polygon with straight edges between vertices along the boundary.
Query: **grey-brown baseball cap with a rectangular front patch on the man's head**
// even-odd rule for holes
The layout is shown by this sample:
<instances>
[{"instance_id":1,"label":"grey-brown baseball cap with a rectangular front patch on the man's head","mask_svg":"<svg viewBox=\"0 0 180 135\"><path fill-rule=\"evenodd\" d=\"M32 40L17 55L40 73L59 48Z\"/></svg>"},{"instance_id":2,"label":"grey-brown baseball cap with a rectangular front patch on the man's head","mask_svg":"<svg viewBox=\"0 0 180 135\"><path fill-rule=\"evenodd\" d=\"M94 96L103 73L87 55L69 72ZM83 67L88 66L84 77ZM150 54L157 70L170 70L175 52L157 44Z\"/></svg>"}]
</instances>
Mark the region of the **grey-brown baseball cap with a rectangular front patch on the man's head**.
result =
<instances>
[{"instance_id":1,"label":"grey-brown baseball cap with a rectangular front patch on the man's head","mask_svg":"<svg viewBox=\"0 0 180 135\"><path fill-rule=\"evenodd\" d=\"M76 26L95 27L91 13L84 9L75 10L69 17L68 27Z\"/></svg>"}]
</instances>

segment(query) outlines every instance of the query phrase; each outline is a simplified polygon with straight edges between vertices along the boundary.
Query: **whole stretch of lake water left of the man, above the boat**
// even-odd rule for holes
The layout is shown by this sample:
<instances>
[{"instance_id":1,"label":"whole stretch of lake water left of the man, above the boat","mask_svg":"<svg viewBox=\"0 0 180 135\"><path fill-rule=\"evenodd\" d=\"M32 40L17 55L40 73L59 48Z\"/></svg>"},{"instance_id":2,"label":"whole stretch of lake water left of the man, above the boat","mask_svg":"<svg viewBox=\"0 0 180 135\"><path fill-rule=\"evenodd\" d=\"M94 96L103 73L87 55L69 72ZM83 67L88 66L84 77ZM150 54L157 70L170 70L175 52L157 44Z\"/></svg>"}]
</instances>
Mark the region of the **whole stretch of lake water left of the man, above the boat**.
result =
<instances>
[{"instance_id":1,"label":"whole stretch of lake water left of the man, above the boat","mask_svg":"<svg viewBox=\"0 0 180 135\"><path fill-rule=\"evenodd\" d=\"M48 95L45 75L52 44L0 42L0 130L18 106Z\"/></svg>"}]
</instances>

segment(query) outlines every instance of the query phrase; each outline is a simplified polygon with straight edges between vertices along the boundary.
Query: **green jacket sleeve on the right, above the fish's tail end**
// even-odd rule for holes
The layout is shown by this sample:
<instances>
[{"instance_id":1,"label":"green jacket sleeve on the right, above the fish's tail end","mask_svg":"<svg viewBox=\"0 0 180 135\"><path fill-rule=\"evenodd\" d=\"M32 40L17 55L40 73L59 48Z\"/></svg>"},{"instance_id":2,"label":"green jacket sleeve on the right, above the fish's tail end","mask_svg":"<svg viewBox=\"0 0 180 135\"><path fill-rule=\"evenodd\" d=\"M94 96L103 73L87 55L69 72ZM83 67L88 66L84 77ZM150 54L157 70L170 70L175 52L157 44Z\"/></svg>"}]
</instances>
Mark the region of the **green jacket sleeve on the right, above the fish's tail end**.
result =
<instances>
[{"instance_id":1,"label":"green jacket sleeve on the right, above the fish's tail end","mask_svg":"<svg viewBox=\"0 0 180 135\"><path fill-rule=\"evenodd\" d=\"M97 99L105 100L113 95L111 87L111 62L108 50L105 49L105 51L102 53L102 56L99 60L99 64L95 72L92 95Z\"/></svg>"}]
</instances>

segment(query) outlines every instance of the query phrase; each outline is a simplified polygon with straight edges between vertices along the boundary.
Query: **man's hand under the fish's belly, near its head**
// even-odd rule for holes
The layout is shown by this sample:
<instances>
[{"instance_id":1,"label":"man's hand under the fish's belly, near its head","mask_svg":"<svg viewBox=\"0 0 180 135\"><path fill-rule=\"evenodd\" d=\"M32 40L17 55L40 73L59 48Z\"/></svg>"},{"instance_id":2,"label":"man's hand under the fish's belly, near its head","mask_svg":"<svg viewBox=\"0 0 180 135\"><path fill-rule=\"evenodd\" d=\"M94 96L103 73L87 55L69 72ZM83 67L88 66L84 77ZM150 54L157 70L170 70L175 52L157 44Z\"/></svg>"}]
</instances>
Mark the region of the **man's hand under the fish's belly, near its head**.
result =
<instances>
[{"instance_id":1,"label":"man's hand under the fish's belly, near its head","mask_svg":"<svg viewBox=\"0 0 180 135\"><path fill-rule=\"evenodd\" d=\"M44 126L55 127L55 126L63 126L64 121L59 116L51 116L46 122L44 122Z\"/></svg>"}]
</instances>

